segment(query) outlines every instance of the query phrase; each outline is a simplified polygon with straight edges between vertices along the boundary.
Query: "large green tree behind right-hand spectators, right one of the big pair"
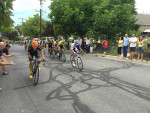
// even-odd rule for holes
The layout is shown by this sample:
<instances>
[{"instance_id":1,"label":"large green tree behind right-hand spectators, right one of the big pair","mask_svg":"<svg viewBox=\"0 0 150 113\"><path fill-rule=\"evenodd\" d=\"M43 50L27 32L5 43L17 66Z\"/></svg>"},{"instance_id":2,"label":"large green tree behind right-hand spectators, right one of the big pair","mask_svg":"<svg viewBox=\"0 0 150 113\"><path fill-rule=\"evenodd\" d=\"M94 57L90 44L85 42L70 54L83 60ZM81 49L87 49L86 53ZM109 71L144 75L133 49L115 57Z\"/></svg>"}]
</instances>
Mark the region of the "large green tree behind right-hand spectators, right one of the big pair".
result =
<instances>
[{"instance_id":1,"label":"large green tree behind right-hand spectators, right one of the big pair","mask_svg":"<svg viewBox=\"0 0 150 113\"><path fill-rule=\"evenodd\" d=\"M93 31L108 40L113 40L117 34L129 32L136 22L134 4L134 0L101 0L94 7Z\"/></svg>"}]
</instances>

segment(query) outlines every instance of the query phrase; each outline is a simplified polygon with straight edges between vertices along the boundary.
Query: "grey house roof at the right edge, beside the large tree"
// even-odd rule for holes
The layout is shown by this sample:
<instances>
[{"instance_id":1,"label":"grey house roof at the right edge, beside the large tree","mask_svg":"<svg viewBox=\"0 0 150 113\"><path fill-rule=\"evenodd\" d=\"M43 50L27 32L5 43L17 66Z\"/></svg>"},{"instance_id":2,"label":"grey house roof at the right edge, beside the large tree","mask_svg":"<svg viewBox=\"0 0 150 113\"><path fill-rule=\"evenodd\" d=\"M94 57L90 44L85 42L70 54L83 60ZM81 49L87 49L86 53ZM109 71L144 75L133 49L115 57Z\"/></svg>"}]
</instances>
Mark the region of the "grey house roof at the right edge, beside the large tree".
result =
<instances>
[{"instance_id":1,"label":"grey house roof at the right edge, beside the large tree","mask_svg":"<svg viewBox=\"0 0 150 113\"><path fill-rule=\"evenodd\" d=\"M140 25L150 25L150 15L148 14L137 14L136 24Z\"/></svg>"}]
</instances>

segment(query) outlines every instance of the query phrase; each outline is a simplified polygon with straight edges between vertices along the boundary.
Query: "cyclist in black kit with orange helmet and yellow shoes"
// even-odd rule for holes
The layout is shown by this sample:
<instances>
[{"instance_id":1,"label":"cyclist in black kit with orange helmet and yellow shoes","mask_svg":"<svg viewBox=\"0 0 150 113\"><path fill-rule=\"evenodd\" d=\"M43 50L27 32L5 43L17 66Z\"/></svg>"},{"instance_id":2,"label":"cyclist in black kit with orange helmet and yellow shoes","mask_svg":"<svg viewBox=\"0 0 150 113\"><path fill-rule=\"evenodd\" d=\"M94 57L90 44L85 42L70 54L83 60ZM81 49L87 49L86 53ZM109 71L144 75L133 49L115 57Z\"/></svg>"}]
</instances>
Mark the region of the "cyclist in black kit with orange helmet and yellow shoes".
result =
<instances>
[{"instance_id":1,"label":"cyclist in black kit with orange helmet and yellow shoes","mask_svg":"<svg viewBox=\"0 0 150 113\"><path fill-rule=\"evenodd\" d=\"M35 56L37 58L37 64L39 65L41 62L41 56L43 58L43 61L45 62L45 57L44 54L42 52L41 47L39 47L38 42L37 41L32 41L31 46L28 49L28 57L29 57L29 68L30 68L30 78L33 78L32 75L32 60L33 60L33 56Z\"/></svg>"}]
</instances>

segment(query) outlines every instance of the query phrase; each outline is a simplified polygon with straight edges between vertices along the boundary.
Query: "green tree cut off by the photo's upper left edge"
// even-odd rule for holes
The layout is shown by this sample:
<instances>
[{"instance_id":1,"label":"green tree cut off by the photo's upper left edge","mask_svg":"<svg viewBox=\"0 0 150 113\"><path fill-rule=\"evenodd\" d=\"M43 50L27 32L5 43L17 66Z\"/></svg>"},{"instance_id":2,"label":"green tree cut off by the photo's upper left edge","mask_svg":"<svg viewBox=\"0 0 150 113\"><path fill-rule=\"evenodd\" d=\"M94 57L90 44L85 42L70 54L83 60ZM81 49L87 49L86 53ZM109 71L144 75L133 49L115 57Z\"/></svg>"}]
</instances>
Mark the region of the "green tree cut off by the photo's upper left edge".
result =
<instances>
[{"instance_id":1,"label":"green tree cut off by the photo's upper left edge","mask_svg":"<svg viewBox=\"0 0 150 113\"><path fill-rule=\"evenodd\" d=\"M14 0L0 0L0 32L8 32L14 23L10 17L13 10L13 1Z\"/></svg>"}]
</instances>

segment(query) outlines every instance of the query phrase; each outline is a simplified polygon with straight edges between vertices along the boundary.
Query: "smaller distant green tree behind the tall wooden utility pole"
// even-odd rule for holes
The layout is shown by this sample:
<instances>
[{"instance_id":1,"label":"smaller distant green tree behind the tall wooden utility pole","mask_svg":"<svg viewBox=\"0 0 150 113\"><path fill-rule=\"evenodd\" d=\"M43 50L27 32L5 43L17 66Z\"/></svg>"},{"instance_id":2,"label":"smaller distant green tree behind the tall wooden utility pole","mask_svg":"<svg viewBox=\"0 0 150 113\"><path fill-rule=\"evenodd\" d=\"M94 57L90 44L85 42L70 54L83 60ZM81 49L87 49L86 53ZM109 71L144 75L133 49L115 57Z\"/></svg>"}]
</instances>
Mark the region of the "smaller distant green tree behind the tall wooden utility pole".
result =
<instances>
[{"instance_id":1,"label":"smaller distant green tree behind the tall wooden utility pole","mask_svg":"<svg viewBox=\"0 0 150 113\"><path fill-rule=\"evenodd\" d=\"M46 28L46 20L42 19L42 32ZM31 38L40 36L40 16L35 14L34 17L29 17L21 27L21 32L24 36L30 36Z\"/></svg>"}]
</instances>

